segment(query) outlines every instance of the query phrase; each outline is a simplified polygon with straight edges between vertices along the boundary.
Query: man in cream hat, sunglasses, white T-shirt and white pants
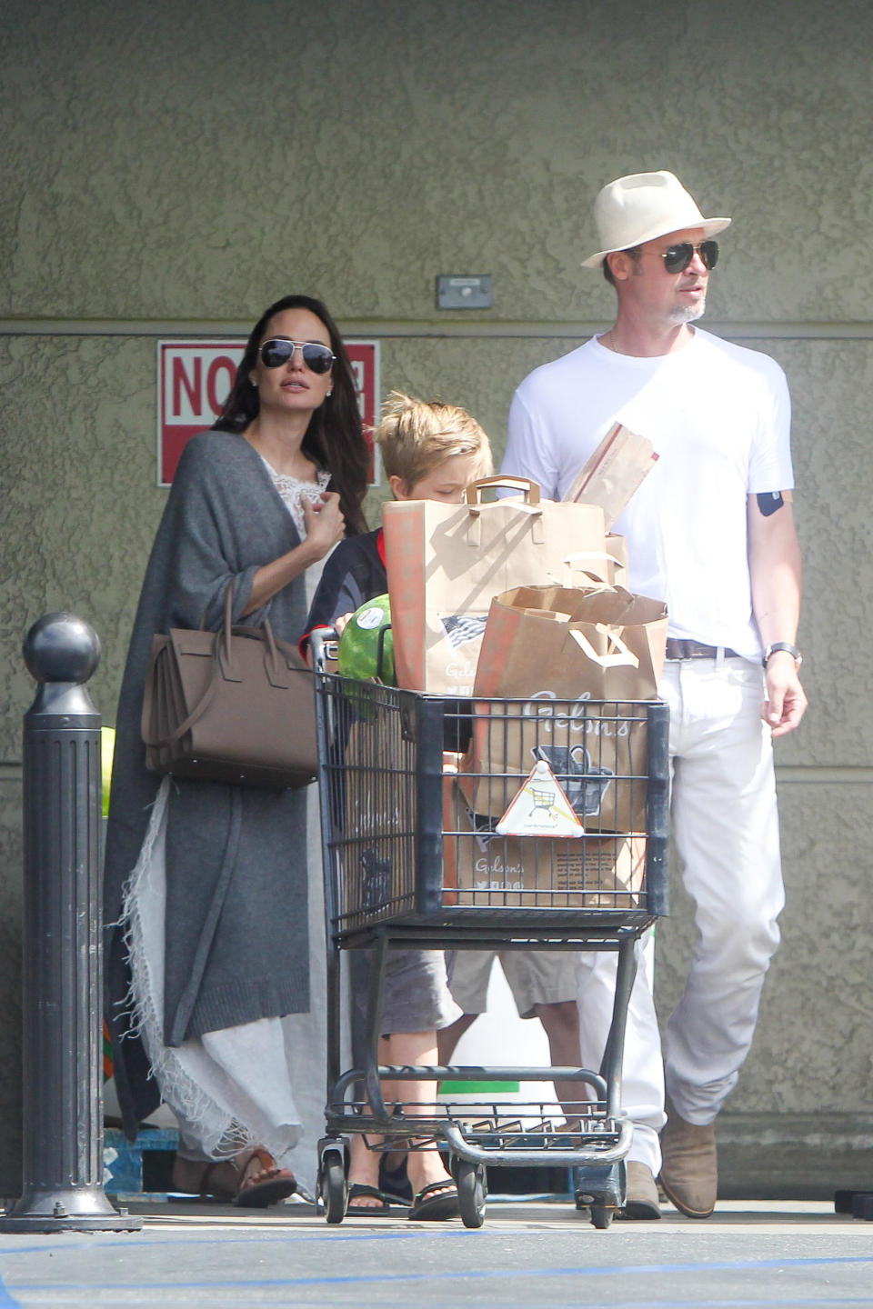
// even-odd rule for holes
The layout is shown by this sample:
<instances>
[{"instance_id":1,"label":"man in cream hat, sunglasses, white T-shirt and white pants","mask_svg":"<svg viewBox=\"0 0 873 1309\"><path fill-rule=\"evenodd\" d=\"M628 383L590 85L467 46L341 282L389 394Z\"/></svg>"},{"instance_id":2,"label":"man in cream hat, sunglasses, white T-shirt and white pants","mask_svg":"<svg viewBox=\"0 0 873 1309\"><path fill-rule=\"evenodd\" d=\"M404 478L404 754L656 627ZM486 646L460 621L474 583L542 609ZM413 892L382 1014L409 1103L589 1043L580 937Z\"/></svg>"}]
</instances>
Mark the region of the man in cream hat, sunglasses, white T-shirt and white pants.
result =
<instances>
[{"instance_id":1,"label":"man in cream hat, sunglasses, white T-shirt and white pants","mask_svg":"<svg viewBox=\"0 0 873 1309\"><path fill-rule=\"evenodd\" d=\"M704 219L665 171L611 182L594 213L601 249L584 266L601 267L615 288L615 322L521 384L504 471L560 500L615 421L658 454L615 530L627 537L631 589L666 601L670 614L660 692L670 706L673 833L698 941L664 1066L645 967L633 988L623 1084L635 1123L628 1199L637 1217L658 1217L660 1169L677 1208L708 1217L715 1118L749 1052L779 942L771 737L796 728L806 707L794 645L791 407L774 360L690 326L704 312L719 254L712 237L730 219ZM596 1066L611 969L610 956L580 956L582 1058Z\"/></svg>"}]
</instances>

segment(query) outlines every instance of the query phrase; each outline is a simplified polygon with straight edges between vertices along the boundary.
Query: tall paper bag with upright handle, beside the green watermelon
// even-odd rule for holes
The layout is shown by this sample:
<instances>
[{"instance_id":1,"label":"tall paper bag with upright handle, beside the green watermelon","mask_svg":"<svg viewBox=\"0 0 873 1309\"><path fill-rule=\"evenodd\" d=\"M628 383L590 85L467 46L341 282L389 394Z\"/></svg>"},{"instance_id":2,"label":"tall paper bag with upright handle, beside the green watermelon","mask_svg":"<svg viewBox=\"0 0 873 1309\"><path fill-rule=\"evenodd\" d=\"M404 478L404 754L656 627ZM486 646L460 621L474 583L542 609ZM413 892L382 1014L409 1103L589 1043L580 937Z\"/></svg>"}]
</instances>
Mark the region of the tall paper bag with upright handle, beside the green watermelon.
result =
<instances>
[{"instance_id":1,"label":"tall paper bag with upright handle, beside the green watermelon","mask_svg":"<svg viewBox=\"0 0 873 1309\"><path fill-rule=\"evenodd\" d=\"M522 490L524 499L486 504L488 486ZM486 478L461 505L386 504L382 522L397 677L408 690L471 694L493 596L526 584L571 585L575 554L596 576L615 575L603 511L541 500L539 487L524 479Z\"/></svg>"}]
</instances>

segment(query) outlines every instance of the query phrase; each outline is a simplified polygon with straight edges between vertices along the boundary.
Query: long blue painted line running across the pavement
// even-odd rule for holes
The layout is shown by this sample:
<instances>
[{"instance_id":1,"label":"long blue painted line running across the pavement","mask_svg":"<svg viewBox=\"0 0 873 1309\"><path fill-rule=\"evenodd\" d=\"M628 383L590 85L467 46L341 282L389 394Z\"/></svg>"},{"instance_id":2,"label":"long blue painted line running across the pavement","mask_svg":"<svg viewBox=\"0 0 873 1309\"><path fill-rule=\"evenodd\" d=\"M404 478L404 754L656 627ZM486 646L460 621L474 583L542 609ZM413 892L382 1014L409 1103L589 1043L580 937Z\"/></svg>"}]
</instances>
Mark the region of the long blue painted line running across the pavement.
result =
<instances>
[{"instance_id":1,"label":"long blue painted line running across the pavement","mask_svg":"<svg viewBox=\"0 0 873 1309\"><path fill-rule=\"evenodd\" d=\"M521 1279L521 1278L628 1278L628 1276L652 1276L653 1274L682 1274L692 1272L696 1275L704 1272L760 1272L764 1268L823 1268L823 1267L848 1267L870 1264L873 1266L873 1257L870 1255L834 1255L827 1258L810 1258L810 1259L730 1259L719 1262L702 1262L702 1263L637 1263L637 1264L602 1264L598 1267L569 1267L569 1268L467 1268L458 1270L453 1272L373 1272L373 1274L355 1274L355 1275L342 1275L342 1276L317 1276L317 1278L259 1278L253 1280L247 1278L246 1280L220 1280L211 1279L209 1282L89 1282L89 1283L75 1283L64 1285L62 1283L50 1283L47 1285L27 1283L27 1291L195 1291L195 1289L245 1289L250 1287L329 1287L329 1285L364 1285L364 1284L380 1284L390 1283L397 1285L398 1283L418 1283L418 1282L466 1282L470 1279L476 1280L490 1280L490 1279ZM708 1301L707 1301L708 1302ZM760 1301L737 1301L737 1304L758 1304ZM804 1301L794 1300L774 1300L770 1304L796 1304ZM815 1304L817 1301L810 1301ZM869 1304L870 1301L849 1300L848 1304Z\"/></svg>"}]
</instances>

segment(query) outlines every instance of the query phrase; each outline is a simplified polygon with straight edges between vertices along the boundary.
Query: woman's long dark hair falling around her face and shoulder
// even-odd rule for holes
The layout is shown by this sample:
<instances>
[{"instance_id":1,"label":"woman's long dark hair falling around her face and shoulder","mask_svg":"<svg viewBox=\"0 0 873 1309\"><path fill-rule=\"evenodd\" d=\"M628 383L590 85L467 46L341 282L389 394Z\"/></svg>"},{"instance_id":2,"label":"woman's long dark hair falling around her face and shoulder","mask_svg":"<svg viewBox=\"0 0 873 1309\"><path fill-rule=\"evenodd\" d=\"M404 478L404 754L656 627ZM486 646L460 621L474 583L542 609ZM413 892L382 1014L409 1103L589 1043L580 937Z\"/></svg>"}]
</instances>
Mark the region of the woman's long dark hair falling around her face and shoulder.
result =
<instances>
[{"instance_id":1,"label":"woman's long dark hair falling around her face and shoulder","mask_svg":"<svg viewBox=\"0 0 873 1309\"><path fill-rule=\"evenodd\" d=\"M310 418L301 449L306 458L330 473L331 490L339 492L346 534L353 537L366 531L361 501L366 493L370 456L361 429L352 365L339 329L321 300L313 300L312 296L283 296L275 305L264 309L251 330L233 387L213 427L220 432L245 432L258 416L260 402L250 373L258 361L258 348L267 323L285 309L308 309L321 318L330 335L330 348L336 356L331 376L332 394Z\"/></svg>"}]
</instances>

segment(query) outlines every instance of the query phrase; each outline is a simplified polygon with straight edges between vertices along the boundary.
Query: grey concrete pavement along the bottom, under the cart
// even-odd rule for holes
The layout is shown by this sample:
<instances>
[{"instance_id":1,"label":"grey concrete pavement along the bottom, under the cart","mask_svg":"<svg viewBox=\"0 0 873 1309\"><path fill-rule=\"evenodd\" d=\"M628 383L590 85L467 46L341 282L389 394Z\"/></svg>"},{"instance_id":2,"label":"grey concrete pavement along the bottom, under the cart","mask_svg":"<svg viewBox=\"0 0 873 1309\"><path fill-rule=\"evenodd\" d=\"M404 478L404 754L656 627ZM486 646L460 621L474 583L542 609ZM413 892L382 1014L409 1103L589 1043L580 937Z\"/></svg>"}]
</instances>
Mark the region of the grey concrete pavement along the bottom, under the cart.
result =
<instances>
[{"instance_id":1,"label":"grey concrete pavement along the bottom, under the cart","mask_svg":"<svg viewBox=\"0 0 873 1309\"><path fill-rule=\"evenodd\" d=\"M486 1224L254 1216L131 1204L139 1234L0 1236L0 1306L633 1309L873 1305L873 1223L805 1202L725 1202L700 1223L597 1232L569 1204L491 1203Z\"/></svg>"}]
</instances>

